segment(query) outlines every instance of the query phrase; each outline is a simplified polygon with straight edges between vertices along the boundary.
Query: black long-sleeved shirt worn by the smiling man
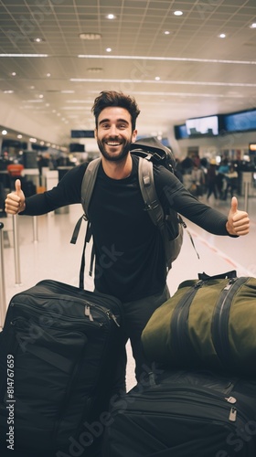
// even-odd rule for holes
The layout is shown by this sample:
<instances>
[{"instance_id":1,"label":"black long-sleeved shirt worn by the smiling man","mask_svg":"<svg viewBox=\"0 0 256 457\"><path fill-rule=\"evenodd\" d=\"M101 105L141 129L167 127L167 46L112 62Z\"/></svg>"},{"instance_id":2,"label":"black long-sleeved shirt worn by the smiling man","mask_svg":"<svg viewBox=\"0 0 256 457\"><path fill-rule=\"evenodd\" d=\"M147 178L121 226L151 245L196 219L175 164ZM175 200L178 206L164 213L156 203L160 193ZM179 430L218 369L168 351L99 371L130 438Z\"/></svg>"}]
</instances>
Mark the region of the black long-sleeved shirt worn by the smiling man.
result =
<instances>
[{"instance_id":1,"label":"black long-sleeved shirt worn by the smiling man","mask_svg":"<svg viewBox=\"0 0 256 457\"><path fill-rule=\"evenodd\" d=\"M71 169L53 189L26 199L22 214L45 214L57 207L80 203L81 181L87 164ZM187 192L175 175L154 167L155 188L165 206L216 235L228 235L227 218ZM123 302L161 292L165 287L165 253L158 229L144 210L138 182L138 157L124 179L105 175L100 165L89 207L96 253L97 290Z\"/></svg>"}]
</instances>

